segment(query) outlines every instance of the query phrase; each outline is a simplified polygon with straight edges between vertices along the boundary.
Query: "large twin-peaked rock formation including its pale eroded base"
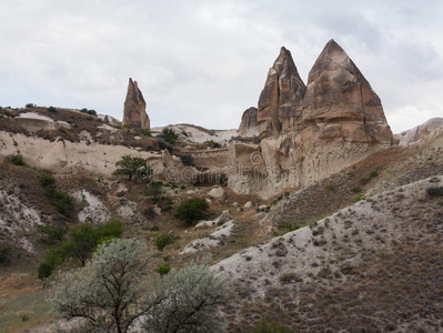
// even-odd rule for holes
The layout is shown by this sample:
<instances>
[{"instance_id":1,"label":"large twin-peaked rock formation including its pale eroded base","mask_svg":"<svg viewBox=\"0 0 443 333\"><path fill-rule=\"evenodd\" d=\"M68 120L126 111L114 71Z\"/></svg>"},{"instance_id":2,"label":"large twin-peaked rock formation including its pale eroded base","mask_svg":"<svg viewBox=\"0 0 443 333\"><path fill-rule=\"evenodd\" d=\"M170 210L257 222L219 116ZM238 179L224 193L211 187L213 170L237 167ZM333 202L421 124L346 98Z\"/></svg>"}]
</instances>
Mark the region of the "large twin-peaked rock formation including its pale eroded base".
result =
<instances>
[{"instance_id":1,"label":"large twin-peaked rock formation including its pale eroded base","mask_svg":"<svg viewBox=\"0 0 443 333\"><path fill-rule=\"evenodd\" d=\"M380 98L330 40L301 81L282 48L259 100L260 143L233 141L228 184L270 196L304 188L385 149L393 137Z\"/></svg>"}]
</instances>

